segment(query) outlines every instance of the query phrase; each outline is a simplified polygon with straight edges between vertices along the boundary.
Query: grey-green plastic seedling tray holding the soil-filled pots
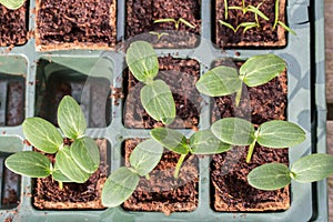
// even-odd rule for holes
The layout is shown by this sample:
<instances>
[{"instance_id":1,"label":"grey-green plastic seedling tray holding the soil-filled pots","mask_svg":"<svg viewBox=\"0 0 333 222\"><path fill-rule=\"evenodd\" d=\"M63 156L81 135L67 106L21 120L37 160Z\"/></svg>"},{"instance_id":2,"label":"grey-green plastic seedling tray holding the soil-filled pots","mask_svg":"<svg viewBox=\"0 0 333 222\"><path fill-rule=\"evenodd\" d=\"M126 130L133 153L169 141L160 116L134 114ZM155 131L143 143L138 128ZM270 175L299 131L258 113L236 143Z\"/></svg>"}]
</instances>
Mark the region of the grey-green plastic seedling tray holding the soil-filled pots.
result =
<instances>
[{"instance_id":1,"label":"grey-green plastic seedling tray holding the soil-filled pots","mask_svg":"<svg viewBox=\"0 0 333 222\"><path fill-rule=\"evenodd\" d=\"M191 58L200 62L201 73L211 68L216 59L234 58L246 59L251 56L275 53L287 62L287 119L300 124L306 131L306 141L289 150L290 163L309 153L326 152L325 144L325 97L324 97L324 47L323 47L323 1L289 0L286 7L287 23L296 31L297 36L287 34L287 46L279 49L238 49L222 51L212 42L212 11L214 2L202 0L202 37L200 44L194 49L159 49L158 56L171 54L174 58ZM34 29L34 14L31 9L34 1L30 2L29 30ZM310 10L307 10L310 9ZM124 36L125 2L118 1L118 40ZM41 61L41 62L37 62ZM48 62L51 61L51 62ZM37 52L34 39L24 46L14 47L10 52L0 48L0 74L23 75L26 78L24 117L34 117L41 110L41 98L48 79L57 73L70 81L84 79L93 82L94 78L109 81L114 88L122 88L122 71L125 69L124 53L110 50L70 50L53 52ZM54 74L56 73L56 74ZM88 84L85 84L88 85ZM83 89L84 91L85 89ZM80 91L80 90L79 90ZM77 98L85 95L78 92ZM208 97L202 97L204 103L210 103ZM6 100L0 97L1 100ZM83 99L81 100L83 101ZM84 100L87 102L87 100ZM88 100L88 108L92 99ZM0 101L1 103L6 101ZM1 112L1 108L0 108ZM92 111L84 112L90 117ZM89 127L88 134L98 139L107 139L110 144L110 171L118 169L122 160L122 142L127 139L148 138L149 130L128 129L123 125L123 102L114 105L113 99L107 105L105 117L110 120L104 124ZM91 120L90 118L88 118ZM211 108L204 105L200 114L199 129L208 129L211 120ZM91 124L90 124L91 125ZM181 129L186 135L193 133L190 129ZM30 150L23 144L21 125L0 127L1 150L8 152ZM8 145L3 138L13 142ZM6 180L3 178L3 158L0 153L1 194ZM2 158L2 159L1 159ZM13 221L327 221L327 192L326 181L313 184L291 184L291 208L281 212L215 212L211 208L212 198L210 185L210 157L199 160L199 204L193 212L175 212L170 216L160 212L124 211L121 206L105 210L37 210L32 206L32 180L22 176L16 185L20 202L10 209L0 205L0 220L8 218Z\"/></svg>"}]
</instances>

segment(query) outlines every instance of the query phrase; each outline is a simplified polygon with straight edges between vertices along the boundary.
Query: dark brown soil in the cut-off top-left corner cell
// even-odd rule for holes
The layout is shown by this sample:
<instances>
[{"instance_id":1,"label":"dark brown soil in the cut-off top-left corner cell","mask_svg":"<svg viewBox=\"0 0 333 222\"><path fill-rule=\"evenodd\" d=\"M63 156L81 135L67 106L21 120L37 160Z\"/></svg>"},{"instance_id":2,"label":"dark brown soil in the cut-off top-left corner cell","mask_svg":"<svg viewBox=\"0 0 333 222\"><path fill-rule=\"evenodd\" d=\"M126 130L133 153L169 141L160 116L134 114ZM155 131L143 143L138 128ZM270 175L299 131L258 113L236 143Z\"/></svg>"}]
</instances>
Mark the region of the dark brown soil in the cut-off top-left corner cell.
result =
<instances>
[{"instance_id":1,"label":"dark brown soil in the cut-off top-left corner cell","mask_svg":"<svg viewBox=\"0 0 333 222\"><path fill-rule=\"evenodd\" d=\"M0 47L27 42L27 2L17 10L0 4Z\"/></svg>"}]
</instances>

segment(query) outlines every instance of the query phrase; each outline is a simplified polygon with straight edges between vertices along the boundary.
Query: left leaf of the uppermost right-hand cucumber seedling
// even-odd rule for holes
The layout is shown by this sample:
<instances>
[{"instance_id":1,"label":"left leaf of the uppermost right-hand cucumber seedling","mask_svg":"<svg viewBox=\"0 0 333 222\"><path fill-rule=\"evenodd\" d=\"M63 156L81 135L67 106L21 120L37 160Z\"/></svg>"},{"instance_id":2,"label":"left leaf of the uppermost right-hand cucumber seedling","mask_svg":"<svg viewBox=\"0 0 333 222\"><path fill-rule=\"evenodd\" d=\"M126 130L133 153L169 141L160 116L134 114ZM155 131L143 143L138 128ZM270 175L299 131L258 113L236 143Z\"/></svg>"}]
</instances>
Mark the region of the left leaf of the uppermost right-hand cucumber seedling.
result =
<instances>
[{"instance_id":1,"label":"left leaf of the uppermost right-hand cucumber seedling","mask_svg":"<svg viewBox=\"0 0 333 222\"><path fill-rule=\"evenodd\" d=\"M221 97L236 92L241 89L242 81L236 69L221 65L204 73L195 87L203 94Z\"/></svg>"}]
</instances>

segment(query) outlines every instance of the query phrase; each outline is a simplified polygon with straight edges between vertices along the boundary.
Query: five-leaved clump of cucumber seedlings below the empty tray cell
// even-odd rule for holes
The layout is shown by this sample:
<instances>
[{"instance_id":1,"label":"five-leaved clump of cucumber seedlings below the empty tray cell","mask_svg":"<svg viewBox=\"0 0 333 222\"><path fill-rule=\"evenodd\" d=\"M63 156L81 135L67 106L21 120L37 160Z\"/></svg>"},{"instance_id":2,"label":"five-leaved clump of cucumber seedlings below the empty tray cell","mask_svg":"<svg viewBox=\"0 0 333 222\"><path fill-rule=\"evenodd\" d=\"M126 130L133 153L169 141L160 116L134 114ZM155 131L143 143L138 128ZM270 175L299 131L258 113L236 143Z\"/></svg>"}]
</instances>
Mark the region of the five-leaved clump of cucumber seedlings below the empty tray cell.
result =
<instances>
[{"instance_id":1,"label":"five-leaved clump of cucumber seedlings below the empty tray cell","mask_svg":"<svg viewBox=\"0 0 333 222\"><path fill-rule=\"evenodd\" d=\"M41 118L27 118L22 124L23 133L30 144L43 153L54 154L56 162L38 151L20 151L6 159L6 167L30 178L52 176L59 182L84 183L100 164L100 152L95 142L87 137L87 122L80 105L65 95L58 107L57 128ZM70 144L64 143L70 140Z\"/></svg>"}]
</instances>

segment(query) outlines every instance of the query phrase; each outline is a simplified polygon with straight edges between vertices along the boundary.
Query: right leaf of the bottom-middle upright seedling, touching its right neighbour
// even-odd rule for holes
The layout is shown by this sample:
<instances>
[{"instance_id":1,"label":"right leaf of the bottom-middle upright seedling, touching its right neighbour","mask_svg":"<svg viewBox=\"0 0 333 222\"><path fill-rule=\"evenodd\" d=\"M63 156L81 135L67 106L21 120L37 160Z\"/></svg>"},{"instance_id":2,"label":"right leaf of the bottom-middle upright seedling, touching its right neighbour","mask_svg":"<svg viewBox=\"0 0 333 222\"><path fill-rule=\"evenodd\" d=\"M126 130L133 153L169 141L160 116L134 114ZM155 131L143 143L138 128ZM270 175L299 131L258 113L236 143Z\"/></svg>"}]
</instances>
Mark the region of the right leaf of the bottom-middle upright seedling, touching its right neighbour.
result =
<instances>
[{"instance_id":1,"label":"right leaf of the bottom-middle upright seedling, touching its right neighbour","mask_svg":"<svg viewBox=\"0 0 333 222\"><path fill-rule=\"evenodd\" d=\"M231 149L231 144L219 140L210 130L195 132L190 138L190 147L193 154L215 154Z\"/></svg>"}]
</instances>

